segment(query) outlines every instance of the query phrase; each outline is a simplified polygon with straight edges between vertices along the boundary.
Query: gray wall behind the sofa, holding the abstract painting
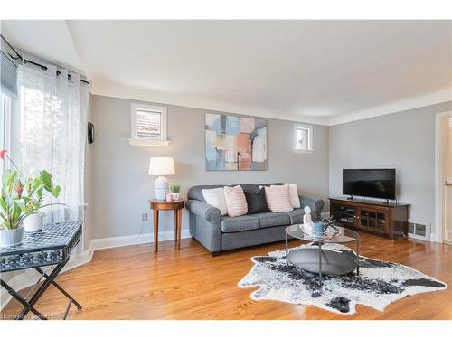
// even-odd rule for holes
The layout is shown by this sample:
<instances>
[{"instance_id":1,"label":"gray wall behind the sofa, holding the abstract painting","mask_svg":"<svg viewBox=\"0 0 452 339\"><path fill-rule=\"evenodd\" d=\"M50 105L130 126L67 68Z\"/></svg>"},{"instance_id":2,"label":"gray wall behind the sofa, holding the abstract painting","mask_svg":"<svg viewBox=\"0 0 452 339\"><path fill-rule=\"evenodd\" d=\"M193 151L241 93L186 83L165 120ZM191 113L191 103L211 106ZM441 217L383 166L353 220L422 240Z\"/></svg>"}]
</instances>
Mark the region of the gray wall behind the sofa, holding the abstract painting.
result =
<instances>
[{"instance_id":1,"label":"gray wall behind the sofa, holding the abstract painting","mask_svg":"<svg viewBox=\"0 0 452 339\"><path fill-rule=\"evenodd\" d=\"M169 147L130 146L128 99L91 96L96 141L92 152L93 174L89 209L93 213L92 238L152 232L148 199L154 195L155 177L147 175L150 156L173 156L176 175L170 182L182 185L185 196L196 184L248 184L290 182L300 193L326 202L328 194L328 127L314 127L313 155L292 152L294 123L268 119L268 171L212 172L204 169L204 113L197 108L165 105L168 111ZM159 105L159 104L157 104ZM142 225L141 214L149 213ZM188 228L184 211L183 229ZM163 212L161 231L173 231L173 212Z\"/></svg>"}]
</instances>

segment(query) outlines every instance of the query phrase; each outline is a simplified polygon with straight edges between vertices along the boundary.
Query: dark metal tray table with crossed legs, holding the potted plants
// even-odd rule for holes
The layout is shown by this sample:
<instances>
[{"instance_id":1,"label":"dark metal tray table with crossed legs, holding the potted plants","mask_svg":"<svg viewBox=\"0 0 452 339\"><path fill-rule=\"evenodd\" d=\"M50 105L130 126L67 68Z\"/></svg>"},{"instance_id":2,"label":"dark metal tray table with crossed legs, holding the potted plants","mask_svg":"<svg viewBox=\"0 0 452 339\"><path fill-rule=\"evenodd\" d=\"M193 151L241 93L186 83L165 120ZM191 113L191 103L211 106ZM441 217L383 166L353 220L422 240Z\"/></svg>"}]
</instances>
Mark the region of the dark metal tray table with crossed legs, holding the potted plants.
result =
<instances>
[{"instance_id":1,"label":"dark metal tray table with crossed legs, holding the potted plants","mask_svg":"<svg viewBox=\"0 0 452 339\"><path fill-rule=\"evenodd\" d=\"M15 320L23 320L30 311L40 319L47 320L34 305L51 285L58 288L69 299L63 319L68 316L72 303L78 309L81 309L81 305L55 282L55 278L69 261L71 250L80 241L81 223L80 221L73 221L46 224L42 231L24 232L24 240L20 245L0 248L0 273L33 268L41 275L28 297L22 297L5 280L0 278L1 286L24 306L22 311L15 316ZM53 265L55 267L52 268L50 274L45 273L42 269ZM30 296L42 279L44 279L42 285L36 289L33 296Z\"/></svg>"}]
</instances>

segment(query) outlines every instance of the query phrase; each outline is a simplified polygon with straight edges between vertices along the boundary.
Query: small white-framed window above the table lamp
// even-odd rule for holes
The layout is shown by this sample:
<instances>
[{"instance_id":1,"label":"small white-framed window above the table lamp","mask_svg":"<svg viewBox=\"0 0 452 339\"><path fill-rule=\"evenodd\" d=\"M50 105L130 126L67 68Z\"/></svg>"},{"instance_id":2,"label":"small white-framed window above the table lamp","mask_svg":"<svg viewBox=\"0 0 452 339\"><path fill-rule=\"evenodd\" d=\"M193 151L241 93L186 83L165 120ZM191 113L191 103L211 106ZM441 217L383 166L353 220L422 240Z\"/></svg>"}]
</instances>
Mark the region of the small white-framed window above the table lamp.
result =
<instances>
[{"instance_id":1,"label":"small white-framed window above the table lamp","mask_svg":"<svg viewBox=\"0 0 452 339\"><path fill-rule=\"evenodd\" d=\"M166 108L160 106L131 105L131 145L168 146L166 139Z\"/></svg>"}]
</instances>

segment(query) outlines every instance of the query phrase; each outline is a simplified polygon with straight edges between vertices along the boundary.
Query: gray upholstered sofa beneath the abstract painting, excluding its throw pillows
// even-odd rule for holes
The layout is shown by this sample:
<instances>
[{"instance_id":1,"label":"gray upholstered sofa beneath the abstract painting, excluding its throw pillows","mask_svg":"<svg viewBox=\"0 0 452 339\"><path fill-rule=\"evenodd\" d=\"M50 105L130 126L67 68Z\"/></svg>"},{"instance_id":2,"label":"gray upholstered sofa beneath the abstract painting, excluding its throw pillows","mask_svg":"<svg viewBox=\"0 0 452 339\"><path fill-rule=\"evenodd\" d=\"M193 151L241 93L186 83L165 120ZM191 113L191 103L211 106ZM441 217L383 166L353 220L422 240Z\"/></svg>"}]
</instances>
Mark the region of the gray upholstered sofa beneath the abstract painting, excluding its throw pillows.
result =
<instances>
[{"instance_id":1,"label":"gray upholstered sofa beneath the abstract painting, excluding its throw pillows","mask_svg":"<svg viewBox=\"0 0 452 339\"><path fill-rule=\"evenodd\" d=\"M281 183L275 183L281 184ZM240 184L245 193L257 193L260 186L270 184ZM188 190L186 208L190 212L192 237L212 252L232 250L285 239L287 225L303 223L305 206L310 206L313 220L320 218L323 200L300 195L301 208L291 212L259 212L240 217L221 216L220 210L207 204L202 189L224 185L193 186Z\"/></svg>"}]
</instances>

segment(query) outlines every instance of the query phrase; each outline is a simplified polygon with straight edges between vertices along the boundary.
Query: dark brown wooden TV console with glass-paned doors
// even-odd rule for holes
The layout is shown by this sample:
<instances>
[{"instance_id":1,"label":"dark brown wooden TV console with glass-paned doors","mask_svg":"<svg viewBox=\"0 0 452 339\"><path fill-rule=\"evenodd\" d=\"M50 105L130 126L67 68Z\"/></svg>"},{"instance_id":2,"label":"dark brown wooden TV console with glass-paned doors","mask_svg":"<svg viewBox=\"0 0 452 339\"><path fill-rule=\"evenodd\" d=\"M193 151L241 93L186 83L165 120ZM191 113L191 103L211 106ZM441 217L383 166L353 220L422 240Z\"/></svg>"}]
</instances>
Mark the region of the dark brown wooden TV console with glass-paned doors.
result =
<instances>
[{"instance_id":1,"label":"dark brown wooden TV console with glass-paned doors","mask_svg":"<svg viewBox=\"0 0 452 339\"><path fill-rule=\"evenodd\" d=\"M344 227L370 231L391 240L408 236L409 203L329 198L330 215Z\"/></svg>"}]
</instances>

